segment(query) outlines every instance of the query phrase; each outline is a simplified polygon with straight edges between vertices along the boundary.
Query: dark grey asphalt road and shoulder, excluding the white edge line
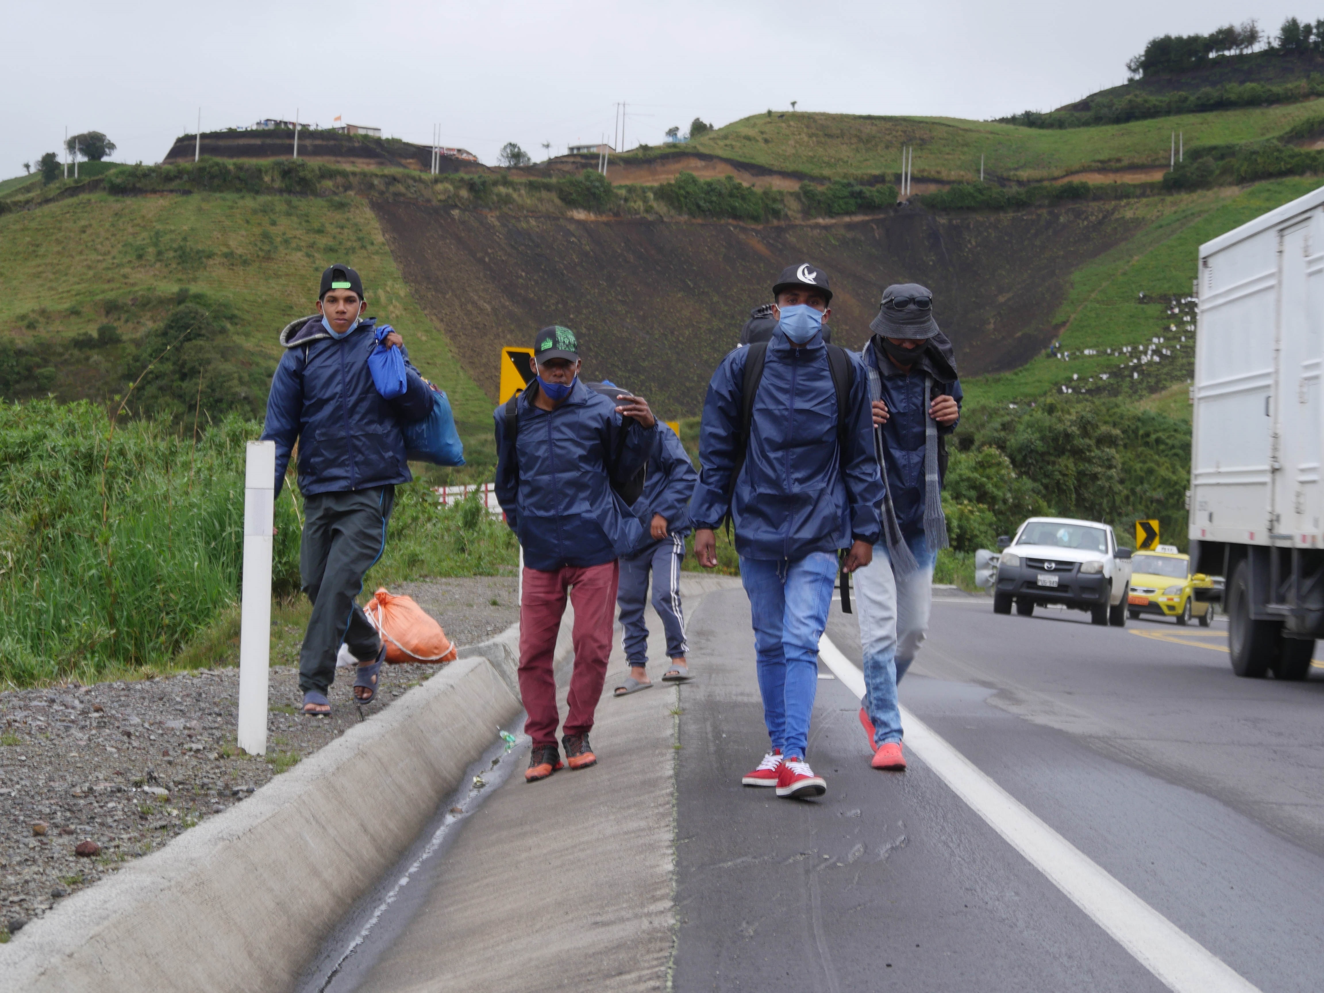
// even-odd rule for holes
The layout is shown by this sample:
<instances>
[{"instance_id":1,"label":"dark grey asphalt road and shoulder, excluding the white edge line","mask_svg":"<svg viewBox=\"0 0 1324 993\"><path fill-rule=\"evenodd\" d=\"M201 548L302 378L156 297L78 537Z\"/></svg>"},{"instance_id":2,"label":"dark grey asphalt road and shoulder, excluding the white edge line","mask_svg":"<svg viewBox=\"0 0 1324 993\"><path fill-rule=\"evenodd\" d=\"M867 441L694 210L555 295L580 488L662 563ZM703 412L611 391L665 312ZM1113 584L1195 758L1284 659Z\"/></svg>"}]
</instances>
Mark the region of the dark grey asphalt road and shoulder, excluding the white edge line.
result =
<instances>
[{"instance_id":1,"label":"dark grey asphalt road and shoulder, excluding the white edge line","mask_svg":"<svg viewBox=\"0 0 1324 993\"><path fill-rule=\"evenodd\" d=\"M821 679L818 802L740 786L765 748L739 592L691 625L678 769L678 990L1147 990L1164 985L923 761L869 768ZM747 621L745 621L747 624ZM1324 985L1324 679L1243 681L1225 633L935 604L903 703L1264 990ZM829 636L859 663L858 628Z\"/></svg>"}]
</instances>

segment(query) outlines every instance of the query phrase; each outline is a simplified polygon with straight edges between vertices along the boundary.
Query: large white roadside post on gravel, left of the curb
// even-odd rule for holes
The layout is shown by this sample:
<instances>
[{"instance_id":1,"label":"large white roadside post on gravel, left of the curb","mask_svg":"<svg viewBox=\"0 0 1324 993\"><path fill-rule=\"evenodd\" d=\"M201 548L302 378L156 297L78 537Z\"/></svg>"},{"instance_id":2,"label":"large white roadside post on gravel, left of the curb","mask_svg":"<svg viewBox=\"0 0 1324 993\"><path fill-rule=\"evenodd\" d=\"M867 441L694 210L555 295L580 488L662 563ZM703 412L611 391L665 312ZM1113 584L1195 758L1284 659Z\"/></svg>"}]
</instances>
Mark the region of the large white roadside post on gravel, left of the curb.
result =
<instances>
[{"instance_id":1,"label":"large white roadside post on gravel, left of the curb","mask_svg":"<svg viewBox=\"0 0 1324 993\"><path fill-rule=\"evenodd\" d=\"M250 441L244 483L244 602L240 608L238 745L266 755L266 679L271 655L271 528L275 442Z\"/></svg>"}]
</instances>

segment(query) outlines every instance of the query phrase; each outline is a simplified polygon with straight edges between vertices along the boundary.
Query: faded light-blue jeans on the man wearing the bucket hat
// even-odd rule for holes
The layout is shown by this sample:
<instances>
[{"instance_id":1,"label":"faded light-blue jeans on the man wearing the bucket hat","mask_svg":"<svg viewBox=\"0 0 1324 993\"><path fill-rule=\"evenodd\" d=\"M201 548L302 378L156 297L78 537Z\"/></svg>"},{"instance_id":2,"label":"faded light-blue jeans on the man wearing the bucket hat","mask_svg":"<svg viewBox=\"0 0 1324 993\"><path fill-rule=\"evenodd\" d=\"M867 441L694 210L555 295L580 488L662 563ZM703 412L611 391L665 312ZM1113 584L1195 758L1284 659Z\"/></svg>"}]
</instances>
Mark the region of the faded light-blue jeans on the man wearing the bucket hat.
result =
<instances>
[{"instance_id":1,"label":"faded light-blue jeans on the man wearing the bucket hat","mask_svg":"<svg viewBox=\"0 0 1324 993\"><path fill-rule=\"evenodd\" d=\"M865 710L874 722L874 747L902 740L896 683L915 661L928 634L933 605L933 563L924 535L906 539L919 569L904 579L892 572L886 544L874 545L874 560L855 571L859 645L865 650Z\"/></svg>"}]
</instances>

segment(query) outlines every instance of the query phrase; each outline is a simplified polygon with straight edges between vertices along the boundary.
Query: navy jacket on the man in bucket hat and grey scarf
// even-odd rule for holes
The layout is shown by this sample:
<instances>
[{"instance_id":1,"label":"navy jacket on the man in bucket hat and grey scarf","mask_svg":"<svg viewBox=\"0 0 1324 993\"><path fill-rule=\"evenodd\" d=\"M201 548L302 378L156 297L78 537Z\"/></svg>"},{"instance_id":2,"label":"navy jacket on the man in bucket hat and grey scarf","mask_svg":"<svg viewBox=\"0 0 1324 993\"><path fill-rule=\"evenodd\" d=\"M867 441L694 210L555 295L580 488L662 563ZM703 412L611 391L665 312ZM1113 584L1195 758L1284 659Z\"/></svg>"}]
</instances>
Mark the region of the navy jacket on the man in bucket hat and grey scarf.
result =
<instances>
[{"instance_id":1,"label":"navy jacket on the man in bucket hat and grey scarf","mask_svg":"<svg viewBox=\"0 0 1324 993\"><path fill-rule=\"evenodd\" d=\"M865 354L865 361L874 363L871 351ZM886 356L876 360L882 400L887 404L887 424L883 425L883 462L887 465L887 493L892 496L896 523L907 538L924 534L924 426L928 412L924 410L924 373L911 368L903 372ZM951 396L957 406L961 404L961 381L939 383L933 380L932 396ZM956 424L937 426L939 434L951 434Z\"/></svg>"}]
</instances>

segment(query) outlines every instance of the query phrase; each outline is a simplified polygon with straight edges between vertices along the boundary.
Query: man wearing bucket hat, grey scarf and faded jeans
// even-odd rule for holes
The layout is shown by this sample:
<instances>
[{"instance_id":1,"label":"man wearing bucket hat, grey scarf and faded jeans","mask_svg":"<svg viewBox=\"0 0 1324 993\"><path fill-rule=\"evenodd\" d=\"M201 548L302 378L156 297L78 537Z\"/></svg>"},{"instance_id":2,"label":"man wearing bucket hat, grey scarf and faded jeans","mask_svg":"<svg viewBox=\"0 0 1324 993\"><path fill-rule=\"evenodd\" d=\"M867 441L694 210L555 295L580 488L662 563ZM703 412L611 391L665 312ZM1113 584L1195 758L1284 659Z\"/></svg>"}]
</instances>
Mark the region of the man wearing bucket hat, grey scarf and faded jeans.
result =
<instances>
[{"instance_id":1,"label":"man wearing bucket hat, grey scarf and faded jeans","mask_svg":"<svg viewBox=\"0 0 1324 993\"><path fill-rule=\"evenodd\" d=\"M855 573L865 700L859 722L875 769L904 769L896 683L928 632L933 563L947 547L945 436L956 430L961 384L952 343L937 330L933 294L918 283L883 290L863 365L874 451L887 481L883 536Z\"/></svg>"}]
</instances>

